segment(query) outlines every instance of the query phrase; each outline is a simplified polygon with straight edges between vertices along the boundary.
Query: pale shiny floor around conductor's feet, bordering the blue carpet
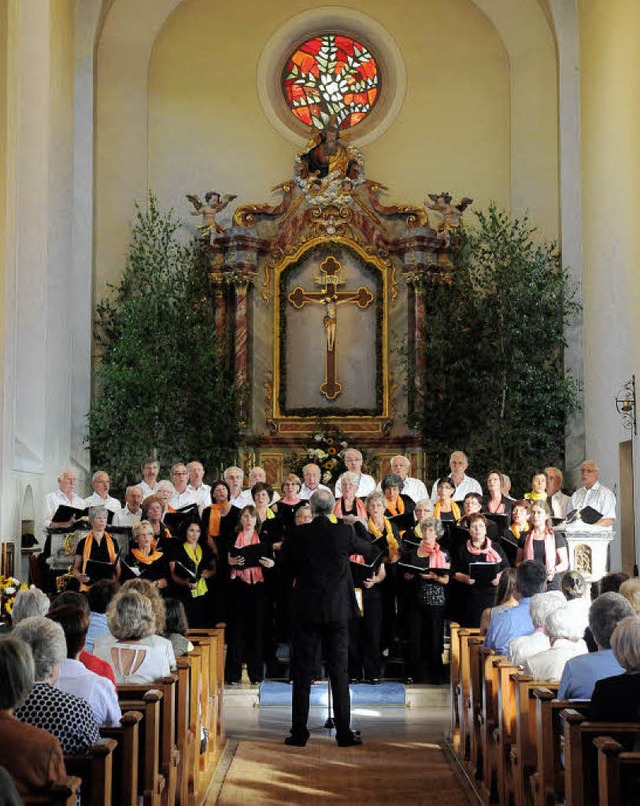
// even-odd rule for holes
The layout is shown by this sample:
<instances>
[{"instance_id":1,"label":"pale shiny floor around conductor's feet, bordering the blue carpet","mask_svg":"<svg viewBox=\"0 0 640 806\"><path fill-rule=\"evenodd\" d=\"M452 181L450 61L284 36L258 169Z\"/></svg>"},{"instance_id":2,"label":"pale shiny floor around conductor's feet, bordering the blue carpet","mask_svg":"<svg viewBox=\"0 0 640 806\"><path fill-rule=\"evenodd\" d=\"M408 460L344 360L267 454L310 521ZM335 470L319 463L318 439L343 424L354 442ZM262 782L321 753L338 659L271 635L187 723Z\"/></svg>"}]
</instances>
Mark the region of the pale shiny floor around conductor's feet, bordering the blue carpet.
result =
<instances>
[{"instance_id":1,"label":"pale shiny floor around conductor's feet, bordering the blue carpet","mask_svg":"<svg viewBox=\"0 0 640 806\"><path fill-rule=\"evenodd\" d=\"M439 742L449 728L449 687L408 686L407 701L402 707L353 707L351 727L362 731L365 741ZM314 741L333 741L333 732L324 728L326 717L326 709L311 709L309 730ZM242 684L225 688L225 719L230 739L282 742L289 733L291 709L258 707L258 686Z\"/></svg>"}]
</instances>

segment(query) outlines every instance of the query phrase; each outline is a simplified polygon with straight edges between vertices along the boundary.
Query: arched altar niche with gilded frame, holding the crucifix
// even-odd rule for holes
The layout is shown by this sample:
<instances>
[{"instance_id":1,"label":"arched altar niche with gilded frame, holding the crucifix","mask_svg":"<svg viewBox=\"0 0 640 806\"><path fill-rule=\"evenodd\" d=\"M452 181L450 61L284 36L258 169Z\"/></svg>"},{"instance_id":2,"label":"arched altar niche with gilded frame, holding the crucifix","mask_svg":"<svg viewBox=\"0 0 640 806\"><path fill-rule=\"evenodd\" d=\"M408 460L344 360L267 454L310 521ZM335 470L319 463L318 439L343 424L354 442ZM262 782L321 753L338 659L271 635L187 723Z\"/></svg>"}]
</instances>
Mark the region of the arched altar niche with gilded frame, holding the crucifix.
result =
<instances>
[{"instance_id":1,"label":"arched altar niche with gilded frame, holding the crucifix","mask_svg":"<svg viewBox=\"0 0 640 806\"><path fill-rule=\"evenodd\" d=\"M275 430L308 431L309 417L345 431L388 427L388 272L342 237L311 239L274 268Z\"/></svg>"}]
</instances>

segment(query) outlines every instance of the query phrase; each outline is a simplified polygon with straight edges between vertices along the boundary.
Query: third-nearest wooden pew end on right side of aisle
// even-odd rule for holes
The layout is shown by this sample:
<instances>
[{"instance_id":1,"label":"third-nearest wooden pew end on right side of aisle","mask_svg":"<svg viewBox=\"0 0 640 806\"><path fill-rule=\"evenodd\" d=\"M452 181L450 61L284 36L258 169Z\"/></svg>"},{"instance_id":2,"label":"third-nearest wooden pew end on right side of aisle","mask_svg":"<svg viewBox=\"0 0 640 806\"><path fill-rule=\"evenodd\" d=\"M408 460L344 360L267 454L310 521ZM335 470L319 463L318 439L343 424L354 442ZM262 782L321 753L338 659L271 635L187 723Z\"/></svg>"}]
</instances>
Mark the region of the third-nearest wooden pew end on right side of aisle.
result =
<instances>
[{"instance_id":1,"label":"third-nearest wooden pew end on right side of aisle","mask_svg":"<svg viewBox=\"0 0 640 806\"><path fill-rule=\"evenodd\" d=\"M557 692L557 683L545 683L532 692L536 709L536 769L530 776L530 784L535 806L554 806L556 795L564 795L560 714L566 708L586 712L589 706L588 701L558 700Z\"/></svg>"}]
</instances>

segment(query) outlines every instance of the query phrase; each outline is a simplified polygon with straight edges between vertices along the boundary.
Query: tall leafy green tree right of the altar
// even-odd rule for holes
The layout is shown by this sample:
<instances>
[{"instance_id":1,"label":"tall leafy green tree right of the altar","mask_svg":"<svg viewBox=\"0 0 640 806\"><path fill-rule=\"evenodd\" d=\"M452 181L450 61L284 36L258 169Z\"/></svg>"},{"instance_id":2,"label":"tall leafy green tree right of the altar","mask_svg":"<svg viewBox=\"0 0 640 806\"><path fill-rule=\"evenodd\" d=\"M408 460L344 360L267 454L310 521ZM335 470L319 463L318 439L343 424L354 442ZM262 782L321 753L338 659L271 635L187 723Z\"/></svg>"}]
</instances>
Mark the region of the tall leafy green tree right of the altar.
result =
<instances>
[{"instance_id":1,"label":"tall leafy green tree right of the altar","mask_svg":"<svg viewBox=\"0 0 640 806\"><path fill-rule=\"evenodd\" d=\"M579 310L556 245L527 218L491 205L468 229L451 286L426 296L426 390L417 412L432 475L462 449L474 475L492 467L528 489L561 463L577 400L563 371L565 326Z\"/></svg>"}]
</instances>

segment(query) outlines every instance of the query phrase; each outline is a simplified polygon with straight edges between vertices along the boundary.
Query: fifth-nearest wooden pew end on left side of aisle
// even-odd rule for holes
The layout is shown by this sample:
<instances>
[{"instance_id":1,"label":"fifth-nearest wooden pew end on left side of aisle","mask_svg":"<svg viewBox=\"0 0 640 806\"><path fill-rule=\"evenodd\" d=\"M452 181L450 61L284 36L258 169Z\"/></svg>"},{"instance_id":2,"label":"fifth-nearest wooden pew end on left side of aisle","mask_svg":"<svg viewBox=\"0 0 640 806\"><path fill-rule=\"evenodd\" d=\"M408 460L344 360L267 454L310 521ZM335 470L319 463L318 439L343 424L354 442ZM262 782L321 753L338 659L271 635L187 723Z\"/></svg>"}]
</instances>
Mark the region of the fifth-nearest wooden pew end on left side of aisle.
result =
<instances>
[{"instance_id":1,"label":"fifth-nearest wooden pew end on left side of aisle","mask_svg":"<svg viewBox=\"0 0 640 806\"><path fill-rule=\"evenodd\" d=\"M180 761L176 745L176 719L177 719L177 683L175 674L162 677L150 685L121 685L117 687L120 706L128 700L140 700L147 691L154 689L160 691L160 772L164 776L163 804L174 804L178 778L178 764Z\"/></svg>"}]
</instances>

